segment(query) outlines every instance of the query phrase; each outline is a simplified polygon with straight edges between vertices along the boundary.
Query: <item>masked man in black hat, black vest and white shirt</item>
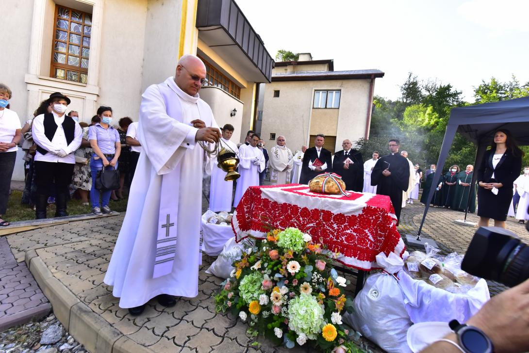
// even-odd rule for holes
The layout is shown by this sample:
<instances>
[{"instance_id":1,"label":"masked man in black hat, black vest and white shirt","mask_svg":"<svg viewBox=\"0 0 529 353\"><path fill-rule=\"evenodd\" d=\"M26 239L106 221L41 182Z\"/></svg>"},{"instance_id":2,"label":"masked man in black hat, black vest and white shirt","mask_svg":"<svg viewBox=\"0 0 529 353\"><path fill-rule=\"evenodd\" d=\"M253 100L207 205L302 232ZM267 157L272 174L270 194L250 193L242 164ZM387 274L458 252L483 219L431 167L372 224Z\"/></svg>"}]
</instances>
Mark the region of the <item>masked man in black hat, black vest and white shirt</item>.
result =
<instances>
[{"instance_id":1,"label":"masked man in black hat, black vest and white shirt","mask_svg":"<svg viewBox=\"0 0 529 353\"><path fill-rule=\"evenodd\" d=\"M50 95L47 104L51 113L41 114L33 120L32 137L37 144L34 168L37 183L35 218L46 218L50 186L56 185L55 217L68 216L66 204L68 185L74 172L74 152L81 145L83 129L70 116L65 115L70 99L60 92Z\"/></svg>"}]
</instances>

